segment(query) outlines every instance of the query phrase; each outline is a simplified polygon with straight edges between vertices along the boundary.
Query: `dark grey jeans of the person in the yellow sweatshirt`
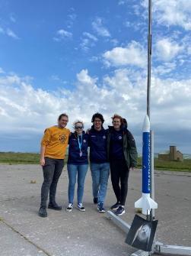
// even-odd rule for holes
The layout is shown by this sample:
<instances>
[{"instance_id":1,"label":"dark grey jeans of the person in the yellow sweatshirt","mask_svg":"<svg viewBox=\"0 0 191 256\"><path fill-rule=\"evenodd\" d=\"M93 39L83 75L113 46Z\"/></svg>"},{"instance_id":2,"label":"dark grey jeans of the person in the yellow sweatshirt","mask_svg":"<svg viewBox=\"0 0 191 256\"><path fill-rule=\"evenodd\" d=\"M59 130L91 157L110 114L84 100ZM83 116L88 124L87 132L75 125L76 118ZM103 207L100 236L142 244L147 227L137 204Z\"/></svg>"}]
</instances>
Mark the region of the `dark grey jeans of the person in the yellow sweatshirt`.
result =
<instances>
[{"instance_id":1,"label":"dark grey jeans of the person in the yellow sweatshirt","mask_svg":"<svg viewBox=\"0 0 191 256\"><path fill-rule=\"evenodd\" d=\"M43 185L41 188L41 204L46 206L46 201L49 195L49 202L56 202L56 187L59 177L64 167L63 159L53 159L45 157L45 165L43 166Z\"/></svg>"}]
</instances>

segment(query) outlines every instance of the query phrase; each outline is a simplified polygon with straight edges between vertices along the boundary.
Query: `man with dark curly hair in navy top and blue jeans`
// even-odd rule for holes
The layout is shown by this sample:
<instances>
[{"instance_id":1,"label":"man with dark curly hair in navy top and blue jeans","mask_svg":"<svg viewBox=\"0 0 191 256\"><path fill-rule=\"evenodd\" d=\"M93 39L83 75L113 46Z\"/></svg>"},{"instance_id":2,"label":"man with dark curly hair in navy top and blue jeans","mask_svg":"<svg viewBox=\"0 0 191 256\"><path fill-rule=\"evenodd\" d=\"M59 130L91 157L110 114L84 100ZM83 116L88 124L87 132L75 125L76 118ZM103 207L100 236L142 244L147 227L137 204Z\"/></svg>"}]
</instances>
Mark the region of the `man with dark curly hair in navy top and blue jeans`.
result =
<instances>
[{"instance_id":1,"label":"man with dark curly hair in navy top and blue jeans","mask_svg":"<svg viewBox=\"0 0 191 256\"><path fill-rule=\"evenodd\" d=\"M107 159L107 132L103 128L104 119L100 113L95 113L91 122L93 125L88 133L94 203L97 204L98 212L105 212L103 204L110 175L110 164Z\"/></svg>"}]
</instances>

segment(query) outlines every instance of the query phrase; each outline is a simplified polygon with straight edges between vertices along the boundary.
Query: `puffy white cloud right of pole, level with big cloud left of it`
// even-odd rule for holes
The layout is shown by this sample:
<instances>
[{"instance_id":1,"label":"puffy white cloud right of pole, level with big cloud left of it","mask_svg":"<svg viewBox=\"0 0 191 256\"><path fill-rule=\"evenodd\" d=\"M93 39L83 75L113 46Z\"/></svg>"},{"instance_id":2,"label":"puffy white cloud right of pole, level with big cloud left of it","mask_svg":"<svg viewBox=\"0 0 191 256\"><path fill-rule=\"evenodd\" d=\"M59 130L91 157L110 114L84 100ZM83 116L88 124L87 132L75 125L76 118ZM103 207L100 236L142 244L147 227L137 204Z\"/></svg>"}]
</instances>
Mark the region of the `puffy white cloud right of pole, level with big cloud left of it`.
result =
<instances>
[{"instance_id":1,"label":"puffy white cloud right of pole, level with big cloud left of it","mask_svg":"<svg viewBox=\"0 0 191 256\"><path fill-rule=\"evenodd\" d=\"M170 61L183 50L183 47L170 38L162 38L157 41L156 50L158 60Z\"/></svg>"}]
</instances>

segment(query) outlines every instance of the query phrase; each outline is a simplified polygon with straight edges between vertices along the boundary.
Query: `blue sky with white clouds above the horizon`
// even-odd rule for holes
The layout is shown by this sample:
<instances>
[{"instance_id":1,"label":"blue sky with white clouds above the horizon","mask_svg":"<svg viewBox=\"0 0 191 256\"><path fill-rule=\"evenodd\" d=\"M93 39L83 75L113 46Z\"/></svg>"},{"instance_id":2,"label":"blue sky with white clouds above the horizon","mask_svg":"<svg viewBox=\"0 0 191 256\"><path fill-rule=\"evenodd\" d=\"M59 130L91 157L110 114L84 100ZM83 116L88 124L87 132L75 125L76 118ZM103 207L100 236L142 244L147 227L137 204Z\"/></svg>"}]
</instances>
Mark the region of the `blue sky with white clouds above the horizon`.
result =
<instances>
[{"instance_id":1,"label":"blue sky with white clouds above the horizon","mask_svg":"<svg viewBox=\"0 0 191 256\"><path fill-rule=\"evenodd\" d=\"M154 152L191 154L191 1L152 1ZM127 119L142 152L148 0L0 0L0 151L39 152L66 112Z\"/></svg>"}]
</instances>

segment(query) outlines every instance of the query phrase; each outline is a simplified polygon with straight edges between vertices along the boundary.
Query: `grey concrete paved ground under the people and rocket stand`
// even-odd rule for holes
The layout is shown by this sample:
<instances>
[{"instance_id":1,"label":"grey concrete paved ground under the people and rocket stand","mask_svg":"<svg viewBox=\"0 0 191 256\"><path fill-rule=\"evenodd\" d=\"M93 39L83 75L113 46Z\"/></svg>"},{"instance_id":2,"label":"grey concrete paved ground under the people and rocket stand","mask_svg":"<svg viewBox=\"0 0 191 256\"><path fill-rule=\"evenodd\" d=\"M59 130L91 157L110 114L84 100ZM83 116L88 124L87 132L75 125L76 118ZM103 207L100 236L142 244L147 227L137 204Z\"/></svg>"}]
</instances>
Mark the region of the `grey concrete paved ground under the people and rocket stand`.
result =
<instances>
[{"instance_id":1,"label":"grey concrete paved ground under the people and rocket stand","mask_svg":"<svg viewBox=\"0 0 191 256\"><path fill-rule=\"evenodd\" d=\"M36 181L36 183L30 183ZM64 209L48 210L48 218L37 215L43 174L37 165L0 165L0 255L1 256L113 256L129 255L133 248L126 245L126 235L97 212L92 203L91 176L84 190L86 212L67 206L68 177L66 171L59 180L57 201ZM191 173L155 173L155 199L158 210L157 240L168 245L191 246ZM134 203L140 196L141 171L129 177L126 214L131 224ZM116 202L109 183L106 208Z\"/></svg>"}]
</instances>

